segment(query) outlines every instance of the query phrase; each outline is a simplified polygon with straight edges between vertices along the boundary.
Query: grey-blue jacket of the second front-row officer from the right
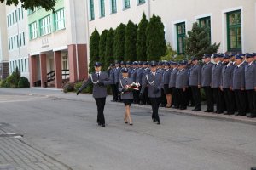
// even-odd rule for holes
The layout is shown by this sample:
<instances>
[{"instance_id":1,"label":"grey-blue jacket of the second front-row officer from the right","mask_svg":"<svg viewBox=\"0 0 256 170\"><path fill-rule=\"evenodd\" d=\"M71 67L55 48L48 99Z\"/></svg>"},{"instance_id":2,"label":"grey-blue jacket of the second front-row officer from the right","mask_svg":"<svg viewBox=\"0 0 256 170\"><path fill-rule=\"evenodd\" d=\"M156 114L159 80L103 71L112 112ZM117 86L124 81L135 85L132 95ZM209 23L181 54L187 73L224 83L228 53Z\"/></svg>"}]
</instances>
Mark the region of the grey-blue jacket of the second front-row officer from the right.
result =
<instances>
[{"instance_id":1,"label":"grey-blue jacket of the second front-row officer from the right","mask_svg":"<svg viewBox=\"0 0 256 170\"><path fill-rule=\"evenodd\" d=\"M245 88L245 68L243 65L240 65L240 67L236 66L234 68L232 88L233 90Z\"/></svg>"}]
</instances>

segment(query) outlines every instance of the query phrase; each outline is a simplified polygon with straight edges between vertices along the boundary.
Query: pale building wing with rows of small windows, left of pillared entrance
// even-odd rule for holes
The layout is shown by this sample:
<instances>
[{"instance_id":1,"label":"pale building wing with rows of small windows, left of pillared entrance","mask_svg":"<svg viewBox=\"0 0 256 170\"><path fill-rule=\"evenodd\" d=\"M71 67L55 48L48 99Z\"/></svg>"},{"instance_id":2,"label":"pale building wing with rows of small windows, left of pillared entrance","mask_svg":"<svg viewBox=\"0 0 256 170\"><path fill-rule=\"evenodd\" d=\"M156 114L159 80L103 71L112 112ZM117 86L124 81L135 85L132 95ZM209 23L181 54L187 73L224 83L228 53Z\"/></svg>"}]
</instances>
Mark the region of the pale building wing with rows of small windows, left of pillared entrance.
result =
<instances>
[{"instance_id":1,"label":"pale building wing with rows of small windows, left of pillared entrance","mask_svg":"<svg viewBox=\"0 0 256 170\"><path fill-rule=\"evenodd\" d=\"M29 78L27 55L26 11L17 6L6 6L7 44L9 55L9 72L18 68L20 76Z\"/></svg>"}]
</instances>

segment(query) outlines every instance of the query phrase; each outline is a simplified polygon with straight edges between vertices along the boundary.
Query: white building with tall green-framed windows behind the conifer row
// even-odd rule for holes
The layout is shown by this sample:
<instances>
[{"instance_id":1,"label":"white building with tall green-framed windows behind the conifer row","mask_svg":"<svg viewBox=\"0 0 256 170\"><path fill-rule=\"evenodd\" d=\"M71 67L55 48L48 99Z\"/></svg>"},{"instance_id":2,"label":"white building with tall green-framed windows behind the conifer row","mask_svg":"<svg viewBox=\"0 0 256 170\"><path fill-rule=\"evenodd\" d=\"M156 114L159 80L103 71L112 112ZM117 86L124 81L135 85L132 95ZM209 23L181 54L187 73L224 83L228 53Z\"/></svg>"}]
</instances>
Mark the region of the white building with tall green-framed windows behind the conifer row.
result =
<instances>
[{"instance_id":1,"label":"white building with tall green-framed windows behind the conifer row","mask_svg":"<svg viewBox=\"0 0 256 170\"><path fill-rule=\"evenodd\" d=\"M88 0L89 32L115 28L131 20L138 23L143 12L159 15L165 25L166 42L184 53L184 37L193 23L208 26L219 52L253 52L256 47L255 0Z\"/></svg>"}]
</instances>

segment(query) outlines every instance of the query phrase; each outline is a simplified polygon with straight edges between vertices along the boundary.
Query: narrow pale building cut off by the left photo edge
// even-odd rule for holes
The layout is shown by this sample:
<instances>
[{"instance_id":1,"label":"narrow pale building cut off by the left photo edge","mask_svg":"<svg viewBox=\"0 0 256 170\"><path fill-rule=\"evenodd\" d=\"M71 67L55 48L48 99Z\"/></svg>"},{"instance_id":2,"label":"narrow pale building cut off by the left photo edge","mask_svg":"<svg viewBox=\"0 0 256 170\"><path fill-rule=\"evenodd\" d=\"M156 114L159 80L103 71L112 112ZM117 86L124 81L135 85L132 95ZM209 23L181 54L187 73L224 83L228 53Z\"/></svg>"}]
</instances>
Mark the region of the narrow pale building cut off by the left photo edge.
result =
<instances>
[{"instance_id":1,"label":"narrow pale building cut off by the left photo edge","mask_svg":"<svg viewBox=\"0 0 256 170\"><path fill-rule=\"evenodd\" d=\"M7 44L7 26L5 5L0 3L0 80L9 75L9 57Z\"/></svg>"}]
</instances>

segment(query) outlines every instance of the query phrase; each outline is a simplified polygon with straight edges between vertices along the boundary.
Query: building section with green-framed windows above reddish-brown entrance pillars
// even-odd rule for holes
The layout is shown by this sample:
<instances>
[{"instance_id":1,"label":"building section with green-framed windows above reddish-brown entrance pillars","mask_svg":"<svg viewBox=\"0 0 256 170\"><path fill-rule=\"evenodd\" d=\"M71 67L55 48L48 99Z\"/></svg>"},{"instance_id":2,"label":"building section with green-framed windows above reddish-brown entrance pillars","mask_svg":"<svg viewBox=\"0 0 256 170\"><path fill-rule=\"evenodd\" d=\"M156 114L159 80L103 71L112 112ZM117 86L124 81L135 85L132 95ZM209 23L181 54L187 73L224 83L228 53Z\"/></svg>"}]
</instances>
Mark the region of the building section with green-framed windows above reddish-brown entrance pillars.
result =
<instances>
[{"instance_id":1,"label":"building section with green-framed windows above reddish-brown entrance pillars","mask_svg":"<svg viewBox=\"0 0 256 170\"><path fill-rule=\"evenodd\" d=\"M28 11L32 87L61 88L68 79L75 82L88 76L85 7L84 0L58 0L55 12L43 8Z\"/></svg>"}]
</instances>

